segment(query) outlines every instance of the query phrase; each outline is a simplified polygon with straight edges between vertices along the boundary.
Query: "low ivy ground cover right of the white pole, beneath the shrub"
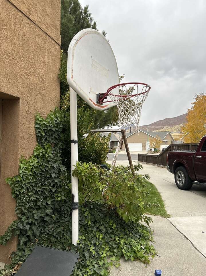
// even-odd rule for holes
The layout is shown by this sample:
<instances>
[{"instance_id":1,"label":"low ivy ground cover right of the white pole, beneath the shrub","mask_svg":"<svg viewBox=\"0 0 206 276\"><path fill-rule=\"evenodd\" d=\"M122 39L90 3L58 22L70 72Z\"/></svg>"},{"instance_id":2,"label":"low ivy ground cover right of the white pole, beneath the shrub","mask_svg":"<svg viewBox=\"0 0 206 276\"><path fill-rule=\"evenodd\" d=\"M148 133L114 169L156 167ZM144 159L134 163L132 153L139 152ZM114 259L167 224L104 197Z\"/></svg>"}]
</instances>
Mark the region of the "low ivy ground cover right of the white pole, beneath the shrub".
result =
<instances>
[{"instance_id":1,"label":"low ivy ground cover right of the white pole, beneath the shrub","mask_svg":"<svg viewBox=\"0 0 206 276\"><path fill-rule=\"evenodd\" d=\"M109 275L109 266L120 257L148 263L155 256L151 231L142 224L125 223L115 208L94 202L80 208L80 235L77 251L80 260L74 276Z\"/></svg>"}]
</instances>

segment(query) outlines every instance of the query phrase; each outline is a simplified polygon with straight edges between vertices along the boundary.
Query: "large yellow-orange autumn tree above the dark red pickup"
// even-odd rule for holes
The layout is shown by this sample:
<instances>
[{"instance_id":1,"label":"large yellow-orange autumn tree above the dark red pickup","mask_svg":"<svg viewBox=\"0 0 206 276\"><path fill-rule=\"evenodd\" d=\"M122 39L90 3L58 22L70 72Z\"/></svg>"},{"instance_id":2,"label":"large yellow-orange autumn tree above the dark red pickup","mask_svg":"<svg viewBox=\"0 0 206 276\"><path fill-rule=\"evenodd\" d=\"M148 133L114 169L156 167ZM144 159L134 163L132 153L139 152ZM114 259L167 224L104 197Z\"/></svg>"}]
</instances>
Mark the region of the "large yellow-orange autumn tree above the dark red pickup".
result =
<instances>
[{"instance_id":1,"label":"large yellow-orange autumn tree above the dark red pickup","mask_svg":"<svg viewBox=\"0 0 206 276\"><path fill-rule=\"evenodd\" d=\"M206 135L206 95L195 96L192 107L187 110L187 123L182 127L185 143L199 143Z\"/></svg>"}]
</instances>

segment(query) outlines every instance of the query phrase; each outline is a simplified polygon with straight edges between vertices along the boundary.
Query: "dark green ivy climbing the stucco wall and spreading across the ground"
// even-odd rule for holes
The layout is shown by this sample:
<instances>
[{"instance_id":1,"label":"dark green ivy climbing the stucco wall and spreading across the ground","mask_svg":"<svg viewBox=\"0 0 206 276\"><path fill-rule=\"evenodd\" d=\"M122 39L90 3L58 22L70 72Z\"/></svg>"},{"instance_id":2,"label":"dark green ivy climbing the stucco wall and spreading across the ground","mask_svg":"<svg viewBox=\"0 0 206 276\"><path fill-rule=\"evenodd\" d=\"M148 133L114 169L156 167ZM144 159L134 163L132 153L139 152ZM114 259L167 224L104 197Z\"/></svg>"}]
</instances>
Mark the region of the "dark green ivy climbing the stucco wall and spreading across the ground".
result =
<instances>
[{"instance_id":1,"label":"dark green ivy climbing the stucco wall and spreading across the ground","mask_svg":"<svg viewBox=\"0 0 206 276\"><path fill-rule=\"evenodd\" d=\"M154 257L149 227L128 222L117 215L115 208L93 202L79 208L79 243L71 244L71 202L69 181L62 165L62 112L55 109L42 118L36 116L38 144L34 154L21 157L19 174L7 183L16 200L18 219L0 237L5 245L18 235L17 251L11 254L11 264L0 275L14 275L36 245L79 253L73 275L109 275L109 267L119 258L149 262Z\"/></svg>"}]
</instances>

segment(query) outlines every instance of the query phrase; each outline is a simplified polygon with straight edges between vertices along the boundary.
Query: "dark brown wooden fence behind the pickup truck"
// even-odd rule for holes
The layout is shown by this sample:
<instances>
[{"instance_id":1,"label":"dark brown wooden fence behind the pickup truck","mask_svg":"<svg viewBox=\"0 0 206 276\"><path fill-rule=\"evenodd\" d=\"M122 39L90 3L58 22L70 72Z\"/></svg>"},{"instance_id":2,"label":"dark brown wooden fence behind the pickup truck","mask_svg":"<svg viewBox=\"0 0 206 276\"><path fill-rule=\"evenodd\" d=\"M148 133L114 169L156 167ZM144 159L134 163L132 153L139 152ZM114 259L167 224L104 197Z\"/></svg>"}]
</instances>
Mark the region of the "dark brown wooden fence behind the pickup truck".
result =
<instances>
[{"instance_id":1,"label":"dark brown wooden fence behind the pickup truck","mask_svg":"<svg viewBox=\"0 0 206 276\"><path fill-rule=\"evenodd\" d=\"M198 143L189 144L170 144L166 150L159 155L154 154L138 154L138 162L153 164L157 166L167 166L167 154L170 150L197 150Z\"/></svg>"}]
</instances>

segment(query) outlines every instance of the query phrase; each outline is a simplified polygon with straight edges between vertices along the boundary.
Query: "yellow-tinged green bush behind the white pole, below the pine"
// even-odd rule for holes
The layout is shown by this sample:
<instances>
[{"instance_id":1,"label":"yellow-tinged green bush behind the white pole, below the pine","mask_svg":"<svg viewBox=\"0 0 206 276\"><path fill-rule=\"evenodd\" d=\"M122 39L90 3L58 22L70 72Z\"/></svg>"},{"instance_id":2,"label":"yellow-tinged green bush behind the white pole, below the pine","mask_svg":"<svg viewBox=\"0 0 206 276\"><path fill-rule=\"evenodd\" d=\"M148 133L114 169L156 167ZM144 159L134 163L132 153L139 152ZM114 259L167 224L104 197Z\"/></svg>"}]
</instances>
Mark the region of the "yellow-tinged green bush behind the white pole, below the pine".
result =
<instances>
[{"instance_id":1,"label":"yellow-tinged green bush behind the white pole, below the pine","mask_svg":"<svg viewBox=\"0 0 206 276\"><path fill-rule=\"evenodd\" d=\"M71 147L70 147L70 113L69 93L62 97L62 162L68 172L71 172ZM78 159L83 162L101 164L105 162L109 151L109 137L101 137L99 133L92 134L94 126L93 111L79 107L77 112L78 120Z\"/></svg>"}]
</instances>

